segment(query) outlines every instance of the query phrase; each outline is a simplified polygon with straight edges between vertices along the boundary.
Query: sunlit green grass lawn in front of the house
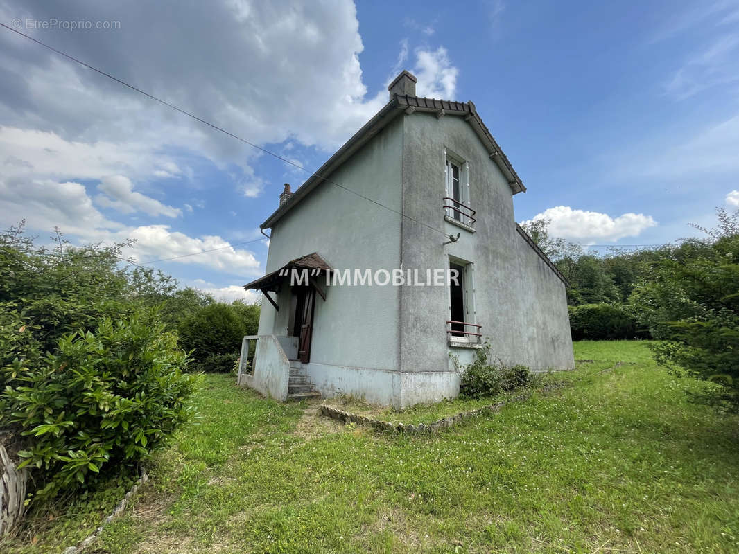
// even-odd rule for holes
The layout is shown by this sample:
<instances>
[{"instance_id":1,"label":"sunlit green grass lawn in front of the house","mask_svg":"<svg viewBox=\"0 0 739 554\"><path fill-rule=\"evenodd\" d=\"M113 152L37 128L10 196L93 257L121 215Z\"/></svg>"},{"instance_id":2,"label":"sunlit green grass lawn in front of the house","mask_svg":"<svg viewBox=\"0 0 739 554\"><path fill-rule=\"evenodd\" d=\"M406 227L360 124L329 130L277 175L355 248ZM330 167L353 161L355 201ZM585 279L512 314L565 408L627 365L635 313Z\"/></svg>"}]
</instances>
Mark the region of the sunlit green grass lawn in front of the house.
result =
<instances>
[{"instance_id":1,"label":"sunlit green grass lawn in front of the house","mask_svg":"<svg viewBox=\"0 0 739 554\"><path fill-rule=\"evenodd\" d=\"M568 386L435 435L344 426L208 375L200 418L92 549L738 552L739 418L690 403L704 385L646 343L575 348L588 361L557 377ZM94 527L73 517L0 550L61 550Z\"/></svg>"}]
</instances>

